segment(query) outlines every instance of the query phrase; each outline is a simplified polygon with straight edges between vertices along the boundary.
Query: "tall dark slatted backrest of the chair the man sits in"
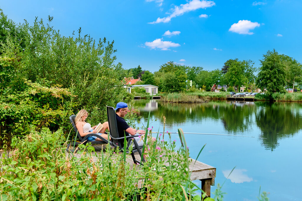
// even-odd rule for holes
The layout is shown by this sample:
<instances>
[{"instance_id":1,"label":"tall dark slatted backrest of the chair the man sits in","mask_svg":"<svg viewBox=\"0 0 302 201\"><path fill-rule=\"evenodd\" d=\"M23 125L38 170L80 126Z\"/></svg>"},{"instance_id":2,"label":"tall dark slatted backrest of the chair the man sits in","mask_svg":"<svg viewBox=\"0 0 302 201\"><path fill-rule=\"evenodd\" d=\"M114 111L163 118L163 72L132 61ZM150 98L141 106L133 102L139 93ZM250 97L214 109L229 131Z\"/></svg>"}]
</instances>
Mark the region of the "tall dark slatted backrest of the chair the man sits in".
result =
<instances>
[{"instance_id":1,"label":"tall dark slatted backrest of the chair the man sits in","mask_svg":"<svg viewBox=\"0 0 302 201\"><path fill-rule=\"evenodd\" d=\"M107 118L109 124L109 130L111 135L112 145L117 147L117 145L121 148L121 143L119 140L115 140L114 138L120 137L117 130L117 123L116 123L116 115L115 110L113 107L107 106Z\"/></svg>"}]
</instances>

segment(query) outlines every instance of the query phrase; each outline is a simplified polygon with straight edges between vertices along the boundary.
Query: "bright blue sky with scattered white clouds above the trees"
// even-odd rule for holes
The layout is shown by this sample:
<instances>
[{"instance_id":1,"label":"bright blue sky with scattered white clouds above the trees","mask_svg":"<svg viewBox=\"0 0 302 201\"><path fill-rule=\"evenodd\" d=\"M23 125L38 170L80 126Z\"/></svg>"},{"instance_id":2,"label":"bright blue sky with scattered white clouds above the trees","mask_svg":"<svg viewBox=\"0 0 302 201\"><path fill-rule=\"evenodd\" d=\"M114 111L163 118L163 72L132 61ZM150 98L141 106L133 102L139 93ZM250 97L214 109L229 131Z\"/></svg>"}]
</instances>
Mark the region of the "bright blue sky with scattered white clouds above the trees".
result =
<instances>
[{"instance_id":1,"label":"bright blue sky with scattered white clouds above the trees","mask_svg":"<svg viewBox=\"0 0 302 201\"><path fill-rule=\"evenodd\" d=\"M157 71L167 61L205 70L228 59L259 59L276 49L302 62L298 0L1 1L15 22L47 20L62 35L82 27L94 39L114 40L123 67Z\"/></svg>"}]
</instances>

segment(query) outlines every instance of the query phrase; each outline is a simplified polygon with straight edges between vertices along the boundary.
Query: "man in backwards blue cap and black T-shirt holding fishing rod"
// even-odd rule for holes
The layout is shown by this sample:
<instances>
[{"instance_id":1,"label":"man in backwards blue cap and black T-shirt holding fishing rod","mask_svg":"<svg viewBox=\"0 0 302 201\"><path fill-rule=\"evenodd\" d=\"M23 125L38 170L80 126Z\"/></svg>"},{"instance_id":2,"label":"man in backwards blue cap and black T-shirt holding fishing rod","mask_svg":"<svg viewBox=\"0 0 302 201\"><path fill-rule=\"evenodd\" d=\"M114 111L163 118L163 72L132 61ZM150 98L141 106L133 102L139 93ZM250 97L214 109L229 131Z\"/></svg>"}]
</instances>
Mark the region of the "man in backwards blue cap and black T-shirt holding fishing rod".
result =
<instances>
[{"instance_id":1,"label":"man in backwards blue cap and black T-shirt holding fishing rod","mask_svg":"<svg viewBox=\"0 0 302 201\"><path fill-rule=\"evenodd\" d=\"M144 130L136 130L132 127L130 127L124 117L128 112L128 105L124 102L119 102L116 104L115 108L115 115L116 115L116 123L117 123L117 132L119 137L124 137L124 133L126 136L128 135L136 135L137 132L140 132L140 134L145 134ZM134 139L137 141L139 146L143 146L143 139L140 140L139 137L134 137Z\"/></svg>"}]
</instances>

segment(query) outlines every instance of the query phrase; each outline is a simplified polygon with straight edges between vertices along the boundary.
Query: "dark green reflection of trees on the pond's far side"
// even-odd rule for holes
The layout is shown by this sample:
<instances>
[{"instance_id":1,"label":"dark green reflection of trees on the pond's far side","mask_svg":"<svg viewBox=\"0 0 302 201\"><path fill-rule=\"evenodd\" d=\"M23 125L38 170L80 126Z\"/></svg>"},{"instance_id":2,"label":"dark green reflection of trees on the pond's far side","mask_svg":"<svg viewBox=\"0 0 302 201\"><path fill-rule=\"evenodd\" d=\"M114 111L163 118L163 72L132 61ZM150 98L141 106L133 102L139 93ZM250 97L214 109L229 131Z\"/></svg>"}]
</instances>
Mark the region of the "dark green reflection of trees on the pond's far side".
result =
<instances>
[{"instance_id":1,"label":"dark green reflection of trees on the pond's far side","mask_svg":"<svg viewBox=\"0 0 302 201\"><path fill-rule=\"evenodd\" d=\"M301 103L211 101L177 104L141 100L137 101L137 105L141 111L149 111L151 108L151 117L154 119L159 120L164 115L167 126L182 124L202 130L199 127L202 122L210 120L213 125L209 126L223 125L221 133L244 133L267 138L262 139L262 145L271 151L279 145L279 139L292 137L302 128ZM148 118L148 112L141 112L140 115L145 120Z\"/></svg>"}]
</instances>

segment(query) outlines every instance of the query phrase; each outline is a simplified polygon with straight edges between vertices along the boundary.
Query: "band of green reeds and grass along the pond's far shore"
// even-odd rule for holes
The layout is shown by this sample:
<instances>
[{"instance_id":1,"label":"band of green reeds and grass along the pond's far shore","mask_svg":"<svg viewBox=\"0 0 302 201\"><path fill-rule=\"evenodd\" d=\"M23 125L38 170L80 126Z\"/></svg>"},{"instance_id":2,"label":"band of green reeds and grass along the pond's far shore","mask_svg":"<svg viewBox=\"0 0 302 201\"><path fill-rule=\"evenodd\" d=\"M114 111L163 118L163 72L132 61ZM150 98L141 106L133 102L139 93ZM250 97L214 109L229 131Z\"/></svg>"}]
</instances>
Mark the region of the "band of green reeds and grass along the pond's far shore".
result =
<instances>
[{"instance_id":1,"label":"band of green reeds and grass along the pond's far shore","mask_svg":"<svg viewBox=\"0 0 302 201\"><path fill-rule=\"evenodd\" d=\"M210 100L226 100L228 92L187 92L187 93L159 93L156 96L160 96L162 102L174 102L174 103L204 103ZM141 96L142 95L142 96ZM152 96L146 94L137 94L142 99L152 99ZM275 93L272 94L272 100L275 102L302 102L302 93ZM270 101L270 97L267 95L257 94L255 101Z\"/></svg>"}]
</instances>

